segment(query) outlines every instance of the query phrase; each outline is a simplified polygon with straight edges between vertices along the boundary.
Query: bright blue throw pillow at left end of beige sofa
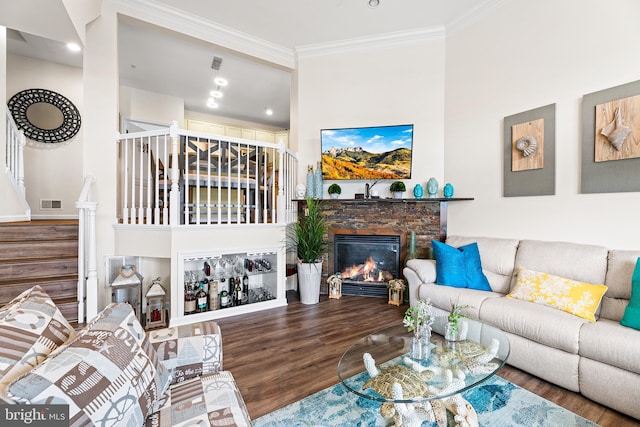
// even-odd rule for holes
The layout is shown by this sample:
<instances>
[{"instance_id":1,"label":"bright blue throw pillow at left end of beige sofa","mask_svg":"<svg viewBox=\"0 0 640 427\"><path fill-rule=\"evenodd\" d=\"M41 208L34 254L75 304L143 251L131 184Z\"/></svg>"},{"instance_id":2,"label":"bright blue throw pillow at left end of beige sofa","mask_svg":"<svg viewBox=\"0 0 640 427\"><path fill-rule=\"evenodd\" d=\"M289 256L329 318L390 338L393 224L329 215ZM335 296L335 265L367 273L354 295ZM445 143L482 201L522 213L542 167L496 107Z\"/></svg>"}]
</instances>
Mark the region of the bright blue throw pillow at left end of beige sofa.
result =
<instances>
[{"instance_id":1,"label":"bright blue throw pillow at left end of beige sofa","mask_svg":"<svg viewBox=\"0 0 640 427\"><path fill-rule=\"evenodd\" d=\"M459 248L437 240L431 241L436 258L436 283L455 288L490 291L491 286L482 272L477 243Z\"/></svg>"}]
</instances>

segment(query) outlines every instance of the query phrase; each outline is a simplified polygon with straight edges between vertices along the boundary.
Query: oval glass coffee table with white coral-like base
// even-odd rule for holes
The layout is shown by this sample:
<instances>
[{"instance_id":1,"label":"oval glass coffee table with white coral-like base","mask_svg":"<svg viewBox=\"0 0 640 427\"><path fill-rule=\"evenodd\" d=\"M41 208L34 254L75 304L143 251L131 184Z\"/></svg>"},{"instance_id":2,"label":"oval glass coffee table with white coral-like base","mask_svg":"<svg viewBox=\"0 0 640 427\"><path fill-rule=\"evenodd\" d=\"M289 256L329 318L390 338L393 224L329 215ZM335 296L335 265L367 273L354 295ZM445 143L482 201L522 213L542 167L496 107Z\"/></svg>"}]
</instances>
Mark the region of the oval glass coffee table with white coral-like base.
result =
<instances>
[{"instance_id":1,"label":"oval glass coffee table with white coral-like base","mask_svg":"<svg viewBox=\"0 0 640 427\"><path fill-rule=\"evenodd\" d=\"M342 355L338 377L349 391L382 402L382 416L393 417L396 425L422 419L446 426L449 409L456 419L477 426L475 410L460 393L504 366L509 339L494 326L464 321L466 339L446 341L436 333L444 333L446 316L437 317L430 354L421 359L412 357L413 334L402 323L371 333Z\"/></svg>"}]
</instances>

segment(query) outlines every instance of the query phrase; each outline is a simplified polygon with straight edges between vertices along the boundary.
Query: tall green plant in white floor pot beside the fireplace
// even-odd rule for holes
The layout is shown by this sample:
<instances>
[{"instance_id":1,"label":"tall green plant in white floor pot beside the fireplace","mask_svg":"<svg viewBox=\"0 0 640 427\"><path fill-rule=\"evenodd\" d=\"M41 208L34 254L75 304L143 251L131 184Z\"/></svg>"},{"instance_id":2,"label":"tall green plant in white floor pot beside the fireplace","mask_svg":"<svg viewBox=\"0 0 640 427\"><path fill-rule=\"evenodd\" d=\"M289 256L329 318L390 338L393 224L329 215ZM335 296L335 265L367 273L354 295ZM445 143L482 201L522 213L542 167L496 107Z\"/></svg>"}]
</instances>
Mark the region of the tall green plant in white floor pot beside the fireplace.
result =
<instances>
[{"instance_id":1,"label":"tall green plant in white floor pot beside the fireplace","mask_svg":"<svg viewBox=\"0 0 640 427\"><path fill-rule=\"evenodd\" d=\"M307 198L306 215L298 218L292 233L298 253L298 291L303 304L317 304L320 299L322 257L327 251L327 231L320 201Z\"/></svg>"}]
</instances>

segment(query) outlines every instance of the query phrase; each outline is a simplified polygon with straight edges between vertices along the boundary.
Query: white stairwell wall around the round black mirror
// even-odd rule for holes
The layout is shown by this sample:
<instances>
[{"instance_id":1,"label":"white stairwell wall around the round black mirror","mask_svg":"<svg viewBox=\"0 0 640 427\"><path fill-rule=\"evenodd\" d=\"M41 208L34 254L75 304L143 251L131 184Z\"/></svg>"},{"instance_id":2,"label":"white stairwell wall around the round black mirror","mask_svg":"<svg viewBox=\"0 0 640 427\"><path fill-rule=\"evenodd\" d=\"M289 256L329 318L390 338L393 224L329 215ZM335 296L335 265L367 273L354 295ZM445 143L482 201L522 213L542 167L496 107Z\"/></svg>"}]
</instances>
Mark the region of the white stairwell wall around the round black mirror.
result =
<instances>
[{"instance_id":1,"label":"white stairwell wall around the round black mirror","mask_svg":"<svg viewBox=\"0 0 640 427\"><path fill-rule=\"evenodd\" d=\"M7 55L7 102L25 89L49 89L69 99L84 119L82 70L26 56ZM82 186L83 127L71 140L24 149L27 201L33 218L77 217ZM40 209L40 199L62 200L61 210Z\"/></svg>"}]
</instances>

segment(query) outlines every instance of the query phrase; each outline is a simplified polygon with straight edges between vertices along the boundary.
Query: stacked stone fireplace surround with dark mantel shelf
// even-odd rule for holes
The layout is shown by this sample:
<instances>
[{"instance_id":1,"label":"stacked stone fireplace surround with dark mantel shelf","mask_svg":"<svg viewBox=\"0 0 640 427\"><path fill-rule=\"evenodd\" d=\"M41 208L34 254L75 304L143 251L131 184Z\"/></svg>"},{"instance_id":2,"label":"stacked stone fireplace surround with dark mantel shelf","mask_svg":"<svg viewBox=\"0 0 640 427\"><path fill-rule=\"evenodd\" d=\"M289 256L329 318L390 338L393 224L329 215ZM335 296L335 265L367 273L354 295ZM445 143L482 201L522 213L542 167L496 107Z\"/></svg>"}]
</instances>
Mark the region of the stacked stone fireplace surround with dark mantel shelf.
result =
<instances>
[{"instance_id":1,"label":"stacked stone fireplace surround with dark mantel shelf","mask_svg":"<svg viewBox=\"0 0 640 427\"><path fill-rule=\"evenodd\" d=\"M322 264L320 293L327 293L326 278L329 272L334 273L333 244L336 234L399 235L400 263L404 264L409 234L412 231L416 233L418 258L427 258L431 251L431 240L446 239L448 203L468 200L473 199L323 199L320 208L329 227L329 253ZM306 201L298 200L298 215L304 215L305 207Z\"/></svg>"}]
</instances>

